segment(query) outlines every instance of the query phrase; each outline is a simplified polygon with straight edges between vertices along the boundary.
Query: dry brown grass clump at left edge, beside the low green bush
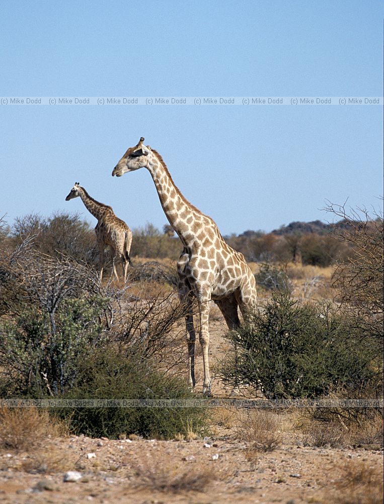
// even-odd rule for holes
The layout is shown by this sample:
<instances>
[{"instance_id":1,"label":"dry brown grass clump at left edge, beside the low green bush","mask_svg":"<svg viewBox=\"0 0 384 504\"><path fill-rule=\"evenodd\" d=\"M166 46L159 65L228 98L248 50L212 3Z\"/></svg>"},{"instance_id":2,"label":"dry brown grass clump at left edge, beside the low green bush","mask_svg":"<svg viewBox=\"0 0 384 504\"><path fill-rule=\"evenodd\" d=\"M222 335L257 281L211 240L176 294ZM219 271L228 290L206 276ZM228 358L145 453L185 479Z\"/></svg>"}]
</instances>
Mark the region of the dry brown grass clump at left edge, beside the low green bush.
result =
<instances>
[{"instance_id":1,"label":"dry brown grass clump at left edge, beside the low green bush","mask_svg":"<svg viewBox=\"0 0 384 504\"><path fill-rule=\"evenodd\" d=\"M30 452L68 433L64 422L52 418L45 409L1 408L0 449Z\"/></svg>"}]
</instances>

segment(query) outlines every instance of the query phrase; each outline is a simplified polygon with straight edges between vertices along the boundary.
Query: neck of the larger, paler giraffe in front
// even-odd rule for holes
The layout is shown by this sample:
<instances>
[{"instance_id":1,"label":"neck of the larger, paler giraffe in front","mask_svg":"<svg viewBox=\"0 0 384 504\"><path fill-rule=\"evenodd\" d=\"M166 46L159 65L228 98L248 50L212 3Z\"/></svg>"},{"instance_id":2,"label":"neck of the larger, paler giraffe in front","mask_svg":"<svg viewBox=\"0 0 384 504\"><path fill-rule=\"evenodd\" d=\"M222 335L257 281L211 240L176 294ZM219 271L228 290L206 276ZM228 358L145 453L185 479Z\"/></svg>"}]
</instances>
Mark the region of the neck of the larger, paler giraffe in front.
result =
<instances>
[{"instance_id":1,"label":"neck of the larger, paler giraffe in front","mask_svg":"<svg viewBox=\"0 0 384 504\"><path fill-rule=\"evenodd\" d=\"M196 242L194 224L198 223L201 231L204 230L203 222L208 219L197 208L189 203L175 185L162 157L156 152L151 152L148 159L148 170L159 195L160 203L171 226L179 235L185 247L191 247Z\"/></svg>"}]
</instances>

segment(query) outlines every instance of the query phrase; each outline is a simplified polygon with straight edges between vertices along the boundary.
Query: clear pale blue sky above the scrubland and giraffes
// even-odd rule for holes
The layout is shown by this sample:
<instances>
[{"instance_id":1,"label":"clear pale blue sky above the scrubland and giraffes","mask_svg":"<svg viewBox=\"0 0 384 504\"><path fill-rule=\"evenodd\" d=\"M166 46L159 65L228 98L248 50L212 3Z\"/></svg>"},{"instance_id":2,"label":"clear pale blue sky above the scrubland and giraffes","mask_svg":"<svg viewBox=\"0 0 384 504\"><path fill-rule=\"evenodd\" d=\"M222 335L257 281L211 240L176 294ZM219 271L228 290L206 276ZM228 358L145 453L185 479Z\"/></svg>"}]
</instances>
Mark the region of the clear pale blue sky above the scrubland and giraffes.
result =
<instances>
[{"instance_id":1,"label":"clear pale blue sky above the scrubland and giraffes","mask_svg":"<svg viewBox=\"0 0 384 504\"><path fill-rule=\"evenodd\" d=\"M381 2L5 2L0 96L382 96ZM382 100L382 98L380 98ZM2 105L0 215L81 212L75 181L131 228L167 223L140 136L222 234L380 208L381 105Z\"/></svg>"}]
</instances>

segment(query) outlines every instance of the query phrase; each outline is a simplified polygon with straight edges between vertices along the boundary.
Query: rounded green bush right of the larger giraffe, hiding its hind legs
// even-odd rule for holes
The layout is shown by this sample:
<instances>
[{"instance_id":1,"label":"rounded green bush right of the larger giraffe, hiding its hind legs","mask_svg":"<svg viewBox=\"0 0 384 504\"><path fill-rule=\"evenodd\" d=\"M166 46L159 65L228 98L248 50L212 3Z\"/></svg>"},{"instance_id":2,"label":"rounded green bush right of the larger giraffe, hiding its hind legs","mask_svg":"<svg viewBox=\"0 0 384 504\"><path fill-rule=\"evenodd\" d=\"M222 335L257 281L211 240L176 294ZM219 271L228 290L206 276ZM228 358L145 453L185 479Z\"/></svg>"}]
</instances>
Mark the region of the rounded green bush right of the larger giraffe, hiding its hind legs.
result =
<instances>
[{"instance_id":1,"label":"rounded green bush right of the larger giraffe, hiding its hind legs","mask_svg":"<svg viewBox=\"0 0 384 504\"><path fill-rule=\"evenodd\" d=\"M312 398L333 388L363 386L375 375L371 348L325 303L300 304L275 294L229 333L237 348L224 380L261 389L267 398Z\"/></svg>"}]
</instances>

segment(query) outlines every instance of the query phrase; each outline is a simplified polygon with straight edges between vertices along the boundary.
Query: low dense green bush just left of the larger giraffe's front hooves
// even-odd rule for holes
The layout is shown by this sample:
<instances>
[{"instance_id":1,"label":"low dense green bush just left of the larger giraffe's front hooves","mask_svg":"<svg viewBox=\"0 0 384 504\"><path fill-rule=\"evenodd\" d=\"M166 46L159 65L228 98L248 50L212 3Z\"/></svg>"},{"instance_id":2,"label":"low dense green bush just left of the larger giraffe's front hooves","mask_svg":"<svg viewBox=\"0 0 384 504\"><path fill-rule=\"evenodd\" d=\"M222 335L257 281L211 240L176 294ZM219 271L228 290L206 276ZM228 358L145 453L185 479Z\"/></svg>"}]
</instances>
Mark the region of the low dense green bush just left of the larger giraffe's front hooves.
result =
<instances>
[{"instance_id":1,"label":"low dense green bush just left of the larger giraffe's front hooves","mask_svg":"<svg viewBox=\"0 0 384 504\"><path fill-rule=\"evenodd\" d=\"M139 349L130 354L109 344L79 362L76 385L65 399L187 399L193 398L187 383L159 372L151 359L142 358ZM56 411L57 414L57 411ZM60 415L70 421L75 433L117 438L119 434L170 439L201 433L207 418L203 408L102 407L63 409Z\"/></svg>"}]
</instances>

